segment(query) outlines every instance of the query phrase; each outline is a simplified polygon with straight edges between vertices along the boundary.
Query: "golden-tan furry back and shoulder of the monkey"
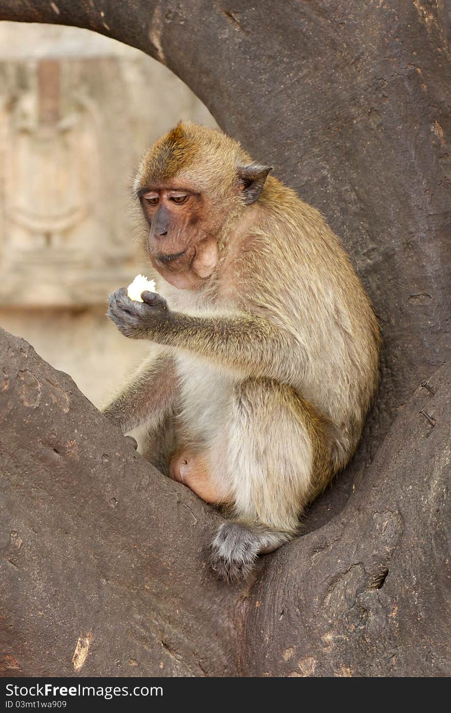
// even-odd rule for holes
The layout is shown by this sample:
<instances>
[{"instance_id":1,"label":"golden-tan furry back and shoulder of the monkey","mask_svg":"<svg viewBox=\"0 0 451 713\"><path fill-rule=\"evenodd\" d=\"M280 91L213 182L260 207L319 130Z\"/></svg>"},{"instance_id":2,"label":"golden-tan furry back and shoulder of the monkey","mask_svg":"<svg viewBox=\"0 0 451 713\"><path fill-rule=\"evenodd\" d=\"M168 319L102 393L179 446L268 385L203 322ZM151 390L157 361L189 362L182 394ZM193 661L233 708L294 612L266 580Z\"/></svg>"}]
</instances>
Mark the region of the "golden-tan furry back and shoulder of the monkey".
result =
<instances>
[{"instance_id":1,"label":"golden-tan furry back and shoulder of the monkey","mask_svg":"<svg viewBox=\"0 0 451 713\"><path fill-rule=\"evenodd\" d=\"M272 177L252 250L245 260L238 255L237 293L294 337L305 366L291 385L326 417L333 458L343 467L378 384L379 328L363 285L321 214Z\"/></svg>"}]
</instances>

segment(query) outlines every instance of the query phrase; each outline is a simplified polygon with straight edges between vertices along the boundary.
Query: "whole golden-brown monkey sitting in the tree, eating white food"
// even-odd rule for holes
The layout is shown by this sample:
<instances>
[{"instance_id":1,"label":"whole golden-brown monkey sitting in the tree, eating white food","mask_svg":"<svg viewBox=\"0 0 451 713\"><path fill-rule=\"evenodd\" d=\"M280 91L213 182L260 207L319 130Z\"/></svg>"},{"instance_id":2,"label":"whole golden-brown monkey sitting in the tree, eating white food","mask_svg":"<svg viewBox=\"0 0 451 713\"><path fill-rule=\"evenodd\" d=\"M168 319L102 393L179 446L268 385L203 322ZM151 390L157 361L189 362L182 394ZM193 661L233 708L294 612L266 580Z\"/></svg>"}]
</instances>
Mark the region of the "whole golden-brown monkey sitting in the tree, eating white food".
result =
<instances>
[{"instance_id":1,"label":"whole golden-brown monkey sitting in the tree, eating white food","mask_svg":"<svg viewBox=\"0 0 451 713\"><path fill-rule=\"evenodd\" d=\"M338 237L272 168L183 121L142 158L133 193L157 292L108 317L150 353L103 409L154 465L225 519L219 578L300 532L353 456L378 385L380 333Z\"/></svg>"}]
</instances>

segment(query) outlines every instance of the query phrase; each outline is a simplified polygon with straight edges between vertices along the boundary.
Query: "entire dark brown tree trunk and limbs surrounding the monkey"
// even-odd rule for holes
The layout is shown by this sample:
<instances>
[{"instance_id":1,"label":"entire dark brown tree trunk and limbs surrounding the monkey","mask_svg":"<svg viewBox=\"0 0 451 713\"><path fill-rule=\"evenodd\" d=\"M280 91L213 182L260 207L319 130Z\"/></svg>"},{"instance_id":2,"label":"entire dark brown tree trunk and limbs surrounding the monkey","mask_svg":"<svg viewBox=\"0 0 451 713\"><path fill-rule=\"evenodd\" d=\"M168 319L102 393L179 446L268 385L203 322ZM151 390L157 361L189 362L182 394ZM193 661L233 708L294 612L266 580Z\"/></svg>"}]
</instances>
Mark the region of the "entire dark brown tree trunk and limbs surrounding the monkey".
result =
<instances>
[{"instance_id":1,"label":"entire dark brown tree trunk and limbs surrounding the monkey","mask_svg":"<svg viewBox=\"0 0 451 713\"><path fill-rule=\"evenodd\" d=\"M159 59L320 208L380 317L382 382L306 535L252 584L219 585L204 553L218 515L4 333L0 670L71 674L81 637L81 675L449 675L450 1L102 9L0 0L1 19Z\"/></svg>"}]
</instances>

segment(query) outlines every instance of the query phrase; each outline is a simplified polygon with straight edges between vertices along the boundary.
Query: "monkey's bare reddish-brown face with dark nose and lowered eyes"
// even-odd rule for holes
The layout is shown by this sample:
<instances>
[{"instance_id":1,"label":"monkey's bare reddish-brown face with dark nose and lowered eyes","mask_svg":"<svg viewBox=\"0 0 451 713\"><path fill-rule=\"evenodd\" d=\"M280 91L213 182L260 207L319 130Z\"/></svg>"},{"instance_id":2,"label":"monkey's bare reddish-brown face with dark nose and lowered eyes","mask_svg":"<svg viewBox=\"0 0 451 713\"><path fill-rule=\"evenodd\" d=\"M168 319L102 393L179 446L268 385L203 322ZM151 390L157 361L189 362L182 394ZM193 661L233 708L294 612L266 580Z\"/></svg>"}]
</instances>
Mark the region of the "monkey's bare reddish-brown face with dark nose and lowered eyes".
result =
<instances>
[{"instance_id":1,"label":"monkey's bare reddish-brown face with dark nose and lowered eyes","mask_svg":"<svg viewBox=\"0 0 451 713\"><path fill-rule=\"evenodd\" d=\"M153 267L180 289L196 289L218 261L218 223L207 200L176 183L152 185L140 197L149 226L146 250Z\"/></svg>"}]
</instances>

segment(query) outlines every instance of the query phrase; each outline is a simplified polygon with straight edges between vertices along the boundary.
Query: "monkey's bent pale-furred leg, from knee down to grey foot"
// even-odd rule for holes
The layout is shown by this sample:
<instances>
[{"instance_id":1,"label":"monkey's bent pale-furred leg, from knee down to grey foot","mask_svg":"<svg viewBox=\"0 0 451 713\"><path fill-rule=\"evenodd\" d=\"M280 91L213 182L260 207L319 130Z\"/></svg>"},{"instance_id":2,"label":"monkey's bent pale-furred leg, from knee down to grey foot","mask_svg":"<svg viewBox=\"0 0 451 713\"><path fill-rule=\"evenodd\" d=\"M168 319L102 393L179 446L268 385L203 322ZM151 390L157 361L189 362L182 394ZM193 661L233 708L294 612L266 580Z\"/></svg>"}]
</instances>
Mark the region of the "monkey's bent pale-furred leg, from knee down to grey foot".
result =
<instances>
[{"instance_id":1,"label":"monkey's bent pale-furred leg, from knee down to grey foot","mask_svg":"<svg viewBox=\"0 0 451 713\"><path fill-rule=\"evenodd\" d=\"M247 578L259 554L296 535L306 503L331 476L321 420L301 397L271 379L236 387L228 434L232 521L212 542L212 567Z\"/></svg>"}]
</instances>

